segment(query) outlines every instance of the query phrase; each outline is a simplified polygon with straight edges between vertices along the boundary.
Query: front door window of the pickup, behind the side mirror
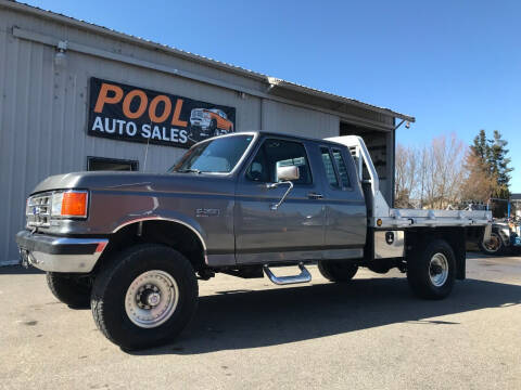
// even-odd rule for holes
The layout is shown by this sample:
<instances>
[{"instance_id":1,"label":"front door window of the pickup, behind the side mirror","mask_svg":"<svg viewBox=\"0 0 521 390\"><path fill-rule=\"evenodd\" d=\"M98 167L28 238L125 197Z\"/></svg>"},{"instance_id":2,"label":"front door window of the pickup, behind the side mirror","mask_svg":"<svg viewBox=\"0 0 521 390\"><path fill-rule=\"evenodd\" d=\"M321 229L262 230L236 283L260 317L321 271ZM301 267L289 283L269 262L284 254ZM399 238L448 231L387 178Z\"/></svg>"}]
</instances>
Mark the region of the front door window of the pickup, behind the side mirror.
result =
<instances>
[{"instance_id":1,"label":"front door window of the pickup, behind the side mirror","mask_svg":"<svg viewBox=\"0 0 521 390\"><path fill-rule=\"evenodd\" d=\"M277 167L295 166L298 180L293 184L312 184L313 178L306 150L298 142L267 139L246 170L246 179L258 182L278 182Z\"/></svg>"}]
</instances>

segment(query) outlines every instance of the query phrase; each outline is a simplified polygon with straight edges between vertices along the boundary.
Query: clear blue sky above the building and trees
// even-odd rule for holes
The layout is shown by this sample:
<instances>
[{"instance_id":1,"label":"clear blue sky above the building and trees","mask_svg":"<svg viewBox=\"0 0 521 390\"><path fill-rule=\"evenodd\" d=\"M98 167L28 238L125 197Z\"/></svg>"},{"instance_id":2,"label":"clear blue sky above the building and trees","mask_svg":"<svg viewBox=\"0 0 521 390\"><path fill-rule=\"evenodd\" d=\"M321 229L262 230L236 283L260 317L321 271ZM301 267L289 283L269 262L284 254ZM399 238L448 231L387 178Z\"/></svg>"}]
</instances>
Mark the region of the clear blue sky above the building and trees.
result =
<instances>
[{"instance_id":1,"label":"clear blue sky above the building and trees","mask_svg":"<svg viewBox=\"0 0 521 390\"><path fill-rule=\"evenodd\" d=\"M521 1L28 3L410 114L404 144L499 130L521 192Z\"/></svg>"}]
</instances>

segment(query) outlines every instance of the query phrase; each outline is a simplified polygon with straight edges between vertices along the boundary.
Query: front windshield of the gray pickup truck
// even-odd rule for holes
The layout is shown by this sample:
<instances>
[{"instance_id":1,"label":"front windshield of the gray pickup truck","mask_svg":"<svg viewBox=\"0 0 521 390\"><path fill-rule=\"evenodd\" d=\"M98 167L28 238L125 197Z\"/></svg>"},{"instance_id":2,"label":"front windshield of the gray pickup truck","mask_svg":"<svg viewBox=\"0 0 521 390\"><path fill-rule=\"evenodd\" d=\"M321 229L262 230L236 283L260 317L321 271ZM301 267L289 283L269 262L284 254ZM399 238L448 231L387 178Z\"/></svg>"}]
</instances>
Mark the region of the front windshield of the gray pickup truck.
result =
<instances>
[{"instance_id":1,"label":"front windshield of the gray pickup truck","mask_svg":"<svg viewBox=\"0 0 521 390\"><path fill-rule=\"evenodd\" d=\"M169 172L231 172L252 140L253 135L233 135L194 145Z\"/></svg>"}]
</instances>

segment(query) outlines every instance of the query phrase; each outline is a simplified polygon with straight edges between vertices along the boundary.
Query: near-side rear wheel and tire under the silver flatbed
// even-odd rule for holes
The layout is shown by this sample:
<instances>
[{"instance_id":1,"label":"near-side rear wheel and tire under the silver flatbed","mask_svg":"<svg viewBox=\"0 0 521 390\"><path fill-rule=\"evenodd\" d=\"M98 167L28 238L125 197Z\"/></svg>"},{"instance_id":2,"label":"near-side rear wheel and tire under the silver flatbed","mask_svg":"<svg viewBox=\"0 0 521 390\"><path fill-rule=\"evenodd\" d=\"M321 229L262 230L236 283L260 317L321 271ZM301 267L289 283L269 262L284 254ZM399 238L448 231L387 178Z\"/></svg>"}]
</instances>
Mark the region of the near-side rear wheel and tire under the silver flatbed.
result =
<instances>
[{"instance_id":1,"label":"near-side rear wheel and tire under the silver flatbed","mask_svg":"<svg viewBox=\"0 0 521 390\"><path fill-rule=\"evenodd\" d=\"M416 246L412 250L421 250ZM407 281L412 291L424 299L447 297L456 278L456 258L453 248L443 239L435 239L407 261Z\"/></svg>"}]
</instances>

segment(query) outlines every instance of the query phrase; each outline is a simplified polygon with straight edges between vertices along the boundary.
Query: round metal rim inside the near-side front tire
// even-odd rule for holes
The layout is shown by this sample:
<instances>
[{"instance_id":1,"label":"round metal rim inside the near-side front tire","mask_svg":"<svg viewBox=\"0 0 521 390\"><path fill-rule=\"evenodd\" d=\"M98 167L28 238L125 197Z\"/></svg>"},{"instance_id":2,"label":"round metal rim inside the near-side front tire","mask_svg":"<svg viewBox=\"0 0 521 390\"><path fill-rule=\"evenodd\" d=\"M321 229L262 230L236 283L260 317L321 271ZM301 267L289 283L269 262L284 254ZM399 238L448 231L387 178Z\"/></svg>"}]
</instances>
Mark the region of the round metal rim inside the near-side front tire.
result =
<instances>
[{"instance_id":1,"label":"round metal rim inside the near-side front tire","mask_svg":"<svg viewBox=\"0 0 521 390\"><path fill-rule=\"evenodd\" d=\"M176 280L165 271L153 270L142 273L130 284L125 311L137 326L153 328L168 321L178 302Z\"/></svg>"}]
</instances>

